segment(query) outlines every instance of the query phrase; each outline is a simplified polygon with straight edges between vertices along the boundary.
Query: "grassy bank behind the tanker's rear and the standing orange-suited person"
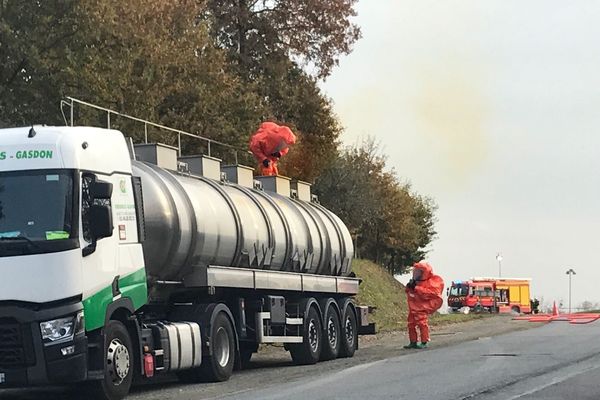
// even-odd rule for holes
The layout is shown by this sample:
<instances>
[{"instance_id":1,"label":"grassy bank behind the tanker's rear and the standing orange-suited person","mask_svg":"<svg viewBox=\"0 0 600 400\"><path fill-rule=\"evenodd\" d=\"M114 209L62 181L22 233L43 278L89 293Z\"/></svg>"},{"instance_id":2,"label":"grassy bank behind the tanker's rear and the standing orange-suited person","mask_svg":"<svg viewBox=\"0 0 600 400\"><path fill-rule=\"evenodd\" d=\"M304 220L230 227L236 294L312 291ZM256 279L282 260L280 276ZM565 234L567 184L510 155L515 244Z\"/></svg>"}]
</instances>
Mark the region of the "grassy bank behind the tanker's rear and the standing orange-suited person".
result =
<instances>
[{"instance_id":1,"label":"grassy bank behind the tanker's rear and the standing orange-suited person","mask_svg":"<svg viewBox=\"0 0 600 400\"><path fill-rule=\"evenodd\" d=\"M354 260L352 270L363 281L356 298L358 304L377 307L372 320L379 332L406 329L408 305L404 285L384 268L367 260ZM448 325L478 318L487 314L439 314L430 318L431 325Z\"/></svg>"}]
</instances>

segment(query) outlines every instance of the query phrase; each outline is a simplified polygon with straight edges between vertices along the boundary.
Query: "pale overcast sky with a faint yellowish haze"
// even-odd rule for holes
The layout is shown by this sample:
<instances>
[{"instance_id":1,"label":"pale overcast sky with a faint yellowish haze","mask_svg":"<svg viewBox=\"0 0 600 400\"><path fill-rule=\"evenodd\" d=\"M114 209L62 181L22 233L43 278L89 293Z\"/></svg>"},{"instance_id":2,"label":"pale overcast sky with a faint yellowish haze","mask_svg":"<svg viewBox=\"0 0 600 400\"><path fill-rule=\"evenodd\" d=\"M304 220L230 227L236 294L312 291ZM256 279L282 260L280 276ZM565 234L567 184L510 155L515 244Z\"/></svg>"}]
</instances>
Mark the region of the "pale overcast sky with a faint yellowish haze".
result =
<instances>
[{"instance_id":1,"label":"pale overcast sky with a faint yellowish haze","mask_svg":"<svg viewBox=\"0 0 600 400\"><path fill-rule=\"evenodd\" d=\"M438 204L447 284L532 279L600 302L600 3L360 0L363 38L323 84L354 144Z\"/></svg>"}]
</instances>

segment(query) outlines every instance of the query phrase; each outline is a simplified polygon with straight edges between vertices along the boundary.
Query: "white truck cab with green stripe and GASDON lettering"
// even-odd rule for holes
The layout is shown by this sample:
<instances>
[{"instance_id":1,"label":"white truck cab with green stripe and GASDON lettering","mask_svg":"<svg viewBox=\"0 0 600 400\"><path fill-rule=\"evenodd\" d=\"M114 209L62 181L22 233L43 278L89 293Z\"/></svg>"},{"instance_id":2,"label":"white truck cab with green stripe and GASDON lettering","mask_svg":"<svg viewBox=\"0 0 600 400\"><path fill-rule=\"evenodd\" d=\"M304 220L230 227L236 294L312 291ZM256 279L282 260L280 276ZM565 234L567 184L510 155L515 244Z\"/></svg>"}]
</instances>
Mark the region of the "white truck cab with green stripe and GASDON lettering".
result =
<instances>
[{"instance_id":1,"label":"white truck cab with green stripe and GASDON lettering","mask_svg":"<svg viewBox=\"0 0 600 400\"><path fill-rule=\"evenodd\" d=\"M133 309L147 297L125 139L43 126L0 138L0 383L85 379L85 331L116 296Z\"/></svg>"}]
</instances>

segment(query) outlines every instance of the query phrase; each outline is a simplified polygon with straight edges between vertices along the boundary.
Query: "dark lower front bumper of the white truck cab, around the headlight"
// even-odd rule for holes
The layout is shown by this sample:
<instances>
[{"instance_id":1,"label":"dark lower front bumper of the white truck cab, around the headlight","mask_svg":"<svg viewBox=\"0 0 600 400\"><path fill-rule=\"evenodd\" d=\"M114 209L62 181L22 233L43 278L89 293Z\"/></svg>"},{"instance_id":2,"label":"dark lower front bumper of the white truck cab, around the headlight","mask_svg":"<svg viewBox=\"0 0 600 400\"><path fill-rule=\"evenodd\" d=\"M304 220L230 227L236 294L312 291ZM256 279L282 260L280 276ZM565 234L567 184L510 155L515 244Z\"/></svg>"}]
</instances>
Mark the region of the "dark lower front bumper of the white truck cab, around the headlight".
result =
<instances>
[{"instance_id":1,"label":"dark lower front bumper of the white truck cab, around the headlight","mask_svg":"<svg viewBox=\"0 0 600 400\"><path fill-rule=\"evenodd\" d=\"M40 332L40 322L72 316L82 308L81 302L43 309L0 303L0 389L87 379L85 335L44 345Z\"/></svg>"}]
</instances>

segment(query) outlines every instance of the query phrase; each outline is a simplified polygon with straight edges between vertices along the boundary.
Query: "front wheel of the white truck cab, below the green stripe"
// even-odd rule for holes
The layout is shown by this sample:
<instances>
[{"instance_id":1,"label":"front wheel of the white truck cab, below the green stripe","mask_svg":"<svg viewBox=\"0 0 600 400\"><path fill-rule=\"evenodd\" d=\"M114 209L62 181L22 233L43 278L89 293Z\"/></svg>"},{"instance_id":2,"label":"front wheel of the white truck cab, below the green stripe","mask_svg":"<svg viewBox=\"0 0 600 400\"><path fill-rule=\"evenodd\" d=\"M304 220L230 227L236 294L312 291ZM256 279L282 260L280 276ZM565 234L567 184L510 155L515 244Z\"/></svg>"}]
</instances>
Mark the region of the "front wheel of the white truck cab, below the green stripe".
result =
<instances>
[{"instance_id":1,"label":"front wheel of the white truck cab, below the green stripe","mask_svg":"<svg viewBox=\"0 0 600 400\"><path fill-rule=\"evenodd\" d=\"M90 382L91 396L98 400L121 400L133 379L133 346L125 325L108 321L104 328L104 378Z\"/></svg>"}]
</instances>

